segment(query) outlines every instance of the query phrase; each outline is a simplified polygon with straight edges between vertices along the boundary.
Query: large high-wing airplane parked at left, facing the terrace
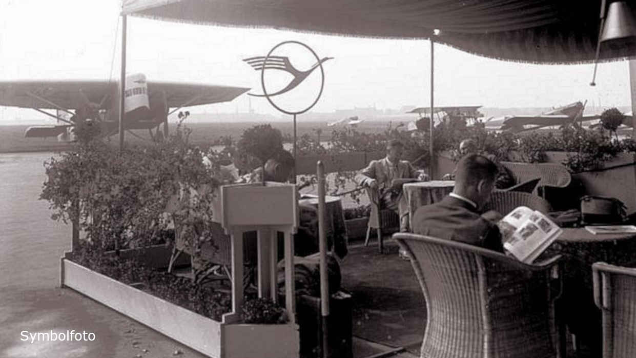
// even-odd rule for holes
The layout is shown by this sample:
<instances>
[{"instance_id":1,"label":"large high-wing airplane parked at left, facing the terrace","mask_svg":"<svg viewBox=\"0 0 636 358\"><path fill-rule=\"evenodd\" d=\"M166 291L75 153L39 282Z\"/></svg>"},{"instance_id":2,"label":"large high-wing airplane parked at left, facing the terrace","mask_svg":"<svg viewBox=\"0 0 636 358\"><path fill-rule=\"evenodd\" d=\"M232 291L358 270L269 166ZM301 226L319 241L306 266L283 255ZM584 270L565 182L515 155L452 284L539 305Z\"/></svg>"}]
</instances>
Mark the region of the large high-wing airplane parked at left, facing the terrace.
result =
<instances>
[{"instance_id":1,"label":"large high-wing airplane parked at left, facing the terrace","mask_svg":"<svg viewBox=\"0 0 636 358\"><path fill-rule=\"evenodd\" d=\"M168 134L168 116L185 106L232 101L249 88L177 82L150 82L143 74L128 75L124 129L148 129L151 138ZM57 120L57 125L27 128L26 138L55 137L73 141L74 128L97 124L102 135L119 132L119 85L107 80L22 80L0 82L0 106L31 108ZM175 108L170 111L170 108ZM57 110L53 114L47 110ZM64 113L64 114L62 114ZM163 133L160 125L163 124ZM153 135L152 129L156 128Z\"/></svg>"}]
</instances>

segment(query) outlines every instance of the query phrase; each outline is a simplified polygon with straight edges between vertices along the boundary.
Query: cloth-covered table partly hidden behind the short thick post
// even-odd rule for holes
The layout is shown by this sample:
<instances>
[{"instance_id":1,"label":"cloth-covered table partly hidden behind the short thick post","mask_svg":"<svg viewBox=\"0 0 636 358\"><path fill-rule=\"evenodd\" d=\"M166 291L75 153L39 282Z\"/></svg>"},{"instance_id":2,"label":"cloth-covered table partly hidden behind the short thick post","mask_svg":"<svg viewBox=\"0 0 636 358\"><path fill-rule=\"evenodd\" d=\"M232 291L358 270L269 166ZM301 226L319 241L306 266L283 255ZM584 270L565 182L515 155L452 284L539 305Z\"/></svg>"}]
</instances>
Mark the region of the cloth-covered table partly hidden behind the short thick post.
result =
<instances>
[{"instance_id":1,"label":"cloth-covered table partly hidden behind the short thick post","mask_svg":"<svg viewBox=\"0 0 636 358\"><path fill-rule=\"evenodd\" d=\"M298 200L301 206L312 206L316 210L316 220L318 215L318 197L311 194L303 194ZM347 226L345 226L345 215L342 209L342 200L338 196L325 196L324 225L327 236L328 248L332 250L340 259L347 255ZM318 228L315 228L318 234ZM331 245L333 243L333 247Z\"/></svg>"}]
</instances>

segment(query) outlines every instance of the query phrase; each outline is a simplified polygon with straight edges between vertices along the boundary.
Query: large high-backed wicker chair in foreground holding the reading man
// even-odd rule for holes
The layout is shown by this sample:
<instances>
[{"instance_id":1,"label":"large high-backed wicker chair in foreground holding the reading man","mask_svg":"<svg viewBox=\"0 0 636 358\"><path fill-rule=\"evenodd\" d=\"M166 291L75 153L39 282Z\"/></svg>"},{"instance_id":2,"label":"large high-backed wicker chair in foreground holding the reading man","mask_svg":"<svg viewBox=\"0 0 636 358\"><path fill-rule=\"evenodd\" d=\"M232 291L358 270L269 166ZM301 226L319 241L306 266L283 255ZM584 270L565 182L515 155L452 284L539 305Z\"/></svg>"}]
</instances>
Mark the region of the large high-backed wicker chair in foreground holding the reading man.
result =
<instances>
[{"instance_id":1,"label":"large high-backed wicker chair in foreground holding the reading man","mask_svg":"<svg viewBox=\"0 0 636 358\"><path fill-rule=\"evenodd\" d=\"M457 241L393 238L410 255L424 292L422 358L564 357L553 304L560 255L529 265Z\"/></svg>"}]
</instances>

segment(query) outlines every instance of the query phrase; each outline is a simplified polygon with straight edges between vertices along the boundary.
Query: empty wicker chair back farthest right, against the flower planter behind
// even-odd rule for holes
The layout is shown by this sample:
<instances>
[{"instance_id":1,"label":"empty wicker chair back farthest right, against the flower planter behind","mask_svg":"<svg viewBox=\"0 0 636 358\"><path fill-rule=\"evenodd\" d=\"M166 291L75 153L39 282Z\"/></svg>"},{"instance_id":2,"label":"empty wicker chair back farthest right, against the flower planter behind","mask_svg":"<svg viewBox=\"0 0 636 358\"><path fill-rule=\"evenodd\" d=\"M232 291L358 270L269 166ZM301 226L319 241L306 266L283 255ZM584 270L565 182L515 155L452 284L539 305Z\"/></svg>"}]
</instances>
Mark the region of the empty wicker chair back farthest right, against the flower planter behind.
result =
<instances>
[{"instance_id":1,"label":"empty wicker chair back farthest right, against the flower planter behind","mask_svg":"<svg viewBox=\"0 0 636 358\"><path fill-rule=\"evenodd\" d=\"M501 162L501 164L515 177L516 183L526 182L537 176L541 177L537 189L541 188L544 199L546 187L565 188L572 181L570 172L561 164L520 162Z\"/></svg>"}]
</instances>

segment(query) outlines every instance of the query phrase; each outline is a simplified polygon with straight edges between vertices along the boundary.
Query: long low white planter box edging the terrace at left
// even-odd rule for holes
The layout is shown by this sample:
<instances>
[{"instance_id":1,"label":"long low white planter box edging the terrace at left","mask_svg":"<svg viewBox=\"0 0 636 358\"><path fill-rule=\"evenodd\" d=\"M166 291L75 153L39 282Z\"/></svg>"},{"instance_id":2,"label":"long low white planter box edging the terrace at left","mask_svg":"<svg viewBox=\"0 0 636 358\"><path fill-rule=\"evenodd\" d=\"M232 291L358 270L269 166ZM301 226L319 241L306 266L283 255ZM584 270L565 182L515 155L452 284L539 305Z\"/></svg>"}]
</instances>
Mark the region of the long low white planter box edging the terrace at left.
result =
<instances>
[{"instance_id":1,"label":"long low white planter box edging the terrace at left","mask_svg":"<svg viewBox=\"0 0 636 358\"><path fill-rule=\"evenodd\" d=\"M223 324L66 258L60 283L210 357L298 357L296 324Z\"/></svg>"}]
</instances>

